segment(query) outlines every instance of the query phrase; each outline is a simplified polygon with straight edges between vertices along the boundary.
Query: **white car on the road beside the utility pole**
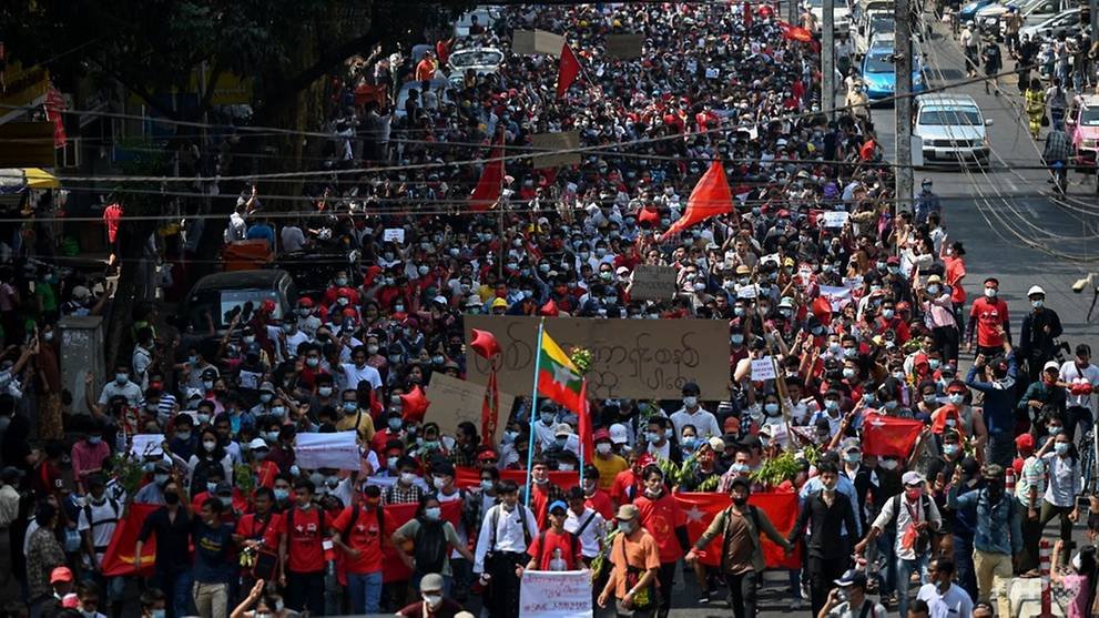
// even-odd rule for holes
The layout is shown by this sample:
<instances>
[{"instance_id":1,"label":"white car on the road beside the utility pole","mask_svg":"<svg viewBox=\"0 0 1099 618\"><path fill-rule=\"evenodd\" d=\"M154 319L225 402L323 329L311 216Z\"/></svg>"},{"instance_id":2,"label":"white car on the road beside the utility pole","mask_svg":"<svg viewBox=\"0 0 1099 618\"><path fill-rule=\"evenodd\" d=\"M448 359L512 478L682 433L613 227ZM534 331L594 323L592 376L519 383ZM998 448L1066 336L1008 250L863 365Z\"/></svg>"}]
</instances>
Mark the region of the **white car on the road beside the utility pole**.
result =
<instances>
[{"instance_id":1,"label":"white car on the road beside the utility pole","mask_svg":"<svg viewBox=\"0 0 1099 618\"><path fill-rule=\"evenodd\" d=\"M968 94L922 94L912 134L923 141L925 163L987 162L991 124Z\"/></svg>"}]
</instances>

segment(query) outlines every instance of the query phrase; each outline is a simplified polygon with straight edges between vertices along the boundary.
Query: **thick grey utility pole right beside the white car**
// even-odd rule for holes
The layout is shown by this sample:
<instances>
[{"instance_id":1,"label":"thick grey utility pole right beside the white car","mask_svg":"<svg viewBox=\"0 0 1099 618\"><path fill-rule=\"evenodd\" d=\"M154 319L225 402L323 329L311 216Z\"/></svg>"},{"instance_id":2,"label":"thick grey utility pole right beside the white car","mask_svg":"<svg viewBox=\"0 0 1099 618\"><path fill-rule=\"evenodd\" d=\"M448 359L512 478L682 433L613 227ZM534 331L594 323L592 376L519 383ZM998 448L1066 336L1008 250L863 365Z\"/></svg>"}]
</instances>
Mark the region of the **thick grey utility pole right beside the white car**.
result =
<instances>
[{"instance_id":1,"label":"thick grey utility pole right beside the white car","mask_svg":"<svg viewBox=\"0 0 1099 618\"><path fill-rule=\"evenodd\" d=\"M894 4L894 21L896 27L894 47L894 71L896 74L896 100L894 109L897 112L896 126L896 211L912 210L912 8L913 0L896 0Z\"/></svg>"}]
</instances>

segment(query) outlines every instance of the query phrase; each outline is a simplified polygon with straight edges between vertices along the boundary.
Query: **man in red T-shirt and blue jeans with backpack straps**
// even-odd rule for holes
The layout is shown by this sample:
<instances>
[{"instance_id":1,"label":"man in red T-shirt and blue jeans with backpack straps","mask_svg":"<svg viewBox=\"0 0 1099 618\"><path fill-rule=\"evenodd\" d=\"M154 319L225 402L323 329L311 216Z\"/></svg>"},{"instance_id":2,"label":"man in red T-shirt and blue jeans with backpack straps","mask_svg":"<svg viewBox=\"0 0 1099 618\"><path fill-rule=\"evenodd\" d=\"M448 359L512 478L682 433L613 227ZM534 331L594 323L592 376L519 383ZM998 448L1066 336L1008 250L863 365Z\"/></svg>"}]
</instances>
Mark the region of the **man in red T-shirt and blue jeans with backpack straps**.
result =
<instances>
[{"instance_id":1,"label":"man in red T-shirt and blue jeans with backpack straps","mask_svg":"<svg viewBox=\"0 0 1099 618\"><path fill-rule=\"evenodd\" d=\"M332 523L332 541L344 551L352 614L378 614L381 601L381 545L386 535L381 489L368 485L362 506L344 508Z\"/></svg>"}]
</instances>

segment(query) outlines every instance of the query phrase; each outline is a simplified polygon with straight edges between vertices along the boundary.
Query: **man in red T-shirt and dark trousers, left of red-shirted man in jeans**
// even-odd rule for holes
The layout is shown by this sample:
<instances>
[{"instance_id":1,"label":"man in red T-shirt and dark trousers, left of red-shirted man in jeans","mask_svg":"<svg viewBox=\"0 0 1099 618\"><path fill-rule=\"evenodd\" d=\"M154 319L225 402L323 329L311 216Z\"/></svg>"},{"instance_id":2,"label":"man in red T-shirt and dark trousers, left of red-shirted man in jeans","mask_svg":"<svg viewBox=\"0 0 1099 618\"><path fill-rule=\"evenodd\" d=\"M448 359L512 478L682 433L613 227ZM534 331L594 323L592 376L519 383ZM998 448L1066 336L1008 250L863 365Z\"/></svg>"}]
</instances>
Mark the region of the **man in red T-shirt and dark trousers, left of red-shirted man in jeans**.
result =
<instances>
[{"instance_id":1,"label":"man in red T-shirt and dark trousers, left of red-shirted man in jeans","mask_svg":"<svg viewBox=\"0 0 1099 618\"><path fill-rule=\"evenodd\" d=\"M324 611L324 535L328 517L313 504L316 486L306 478L294 482L294 507L286 511L278 546L279 585L286 589L286 607L309 614ZM288 584L288 587L287 587Z\"/></svg>"}]
</instances>

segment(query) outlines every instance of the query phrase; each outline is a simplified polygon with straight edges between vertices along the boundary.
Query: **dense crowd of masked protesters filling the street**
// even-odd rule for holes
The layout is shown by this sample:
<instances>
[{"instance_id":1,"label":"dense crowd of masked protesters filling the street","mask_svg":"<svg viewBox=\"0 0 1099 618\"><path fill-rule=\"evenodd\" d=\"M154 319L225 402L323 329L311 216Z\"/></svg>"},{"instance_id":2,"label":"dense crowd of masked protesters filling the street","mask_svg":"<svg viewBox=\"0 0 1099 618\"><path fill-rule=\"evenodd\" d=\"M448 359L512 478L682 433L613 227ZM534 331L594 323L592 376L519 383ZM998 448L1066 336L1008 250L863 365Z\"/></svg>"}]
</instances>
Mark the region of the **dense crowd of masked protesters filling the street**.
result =
<instances>
[{"instance_id":1,"label":"dense crowd of masked protesters filling the street","mask_svg":"<svg viewBox=\"0 0 1099 618\"><path fill-rule=\"evenodd\" d=\"M513 30L536 28L564 33L583 65L561 98L557 59L510 51ZM640 58L608 58L606 37L625 32L644 34ZM0 365L0 586L19 599L6 615L116 618L140 597L147 617L464 605L512 617L525 570L593 569L593 601L620 616L668 616L680 570L686 607L724 594L751 617L767 538L800 549L792 604L813 616L990 616L1008 578L1037 573L1054 519L1058 598L1087 615L1095 548L1073 550L1071 528L1091 489L1078 447L1099 385L1090 349L1058 359L1061 325L1038 286L1010 307L1025 314L1012 333L999 282L966 280L930 182L893 195L869 115L822 113L814 47L786 34L760 3L507 8L430 52L356 64L334 97L330 154L387 171L340 175L299 221L266 217L253 190L226 232L347 265L292 313L254 307L223 338L184 345L141 307L132 353L82 385L75 439L55 321L101 312L110 291L48 267L0 272L13 346ZM505 62L439 87L459 45ZM356 104L363 84L409 81L401 108ZM570 130L579 163L532 169L531 136ZM484 165L468 162L490 155L506 159L499 199L469 212ZM713 160L732 212L662 236ZM673 266L674 296L632 300L639 265ZM465 376L469 314L725 321L729 389L593 401L594 453L579 452L576 414L522 397L500 444L468 423L448 435L413 413L415 393L436 373ZM764 355L779 375L753 382ZM864 453L882 418L924 426L904 454ZM357 433L360 469L297 465L298 434L334 432ZM120 456L135 434L164 439ZM501 472L526 469L529 447L527 496ZM787 452L796 469L764 479ZM672 480L668 462L691 474ZM579 486L550 480L581 466ZM477 485L458 486L465 469ZM706 489L731 506L690 538L674 496ZM788 534L749 504L760 492L798 494ZM390 533L387 509L403 504L415 514ZM152 510L133 546L111 548L139 505ZM699 563L708 547L719 567ZM152 576L104 574L109 550ZM401 581L384 577L393 550Z\"/></svg>"}]
</instances>

